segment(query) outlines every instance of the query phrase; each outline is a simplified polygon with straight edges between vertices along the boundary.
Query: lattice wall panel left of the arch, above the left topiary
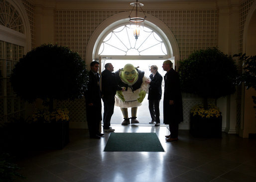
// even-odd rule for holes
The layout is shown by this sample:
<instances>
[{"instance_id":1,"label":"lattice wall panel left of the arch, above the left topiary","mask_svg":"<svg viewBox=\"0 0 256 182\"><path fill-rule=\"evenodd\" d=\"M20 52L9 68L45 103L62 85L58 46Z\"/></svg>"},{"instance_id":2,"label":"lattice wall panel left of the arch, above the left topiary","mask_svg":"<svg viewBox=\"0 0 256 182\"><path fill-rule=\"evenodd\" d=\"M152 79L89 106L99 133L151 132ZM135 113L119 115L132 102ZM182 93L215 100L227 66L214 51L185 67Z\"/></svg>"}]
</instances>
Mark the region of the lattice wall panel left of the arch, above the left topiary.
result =
<instances>
[{"instance_id":1,"label":"lattice wall panel left of the arch, above the left topiary","mask_svg":"<svg viewBox=\"0 0 256 182\"><path fill-rule=\"evenodd\" d=\"M94 30L108 17L122 11L56 11L55 42L76 51L85 60Z\"/></svg>"}]
</instances>

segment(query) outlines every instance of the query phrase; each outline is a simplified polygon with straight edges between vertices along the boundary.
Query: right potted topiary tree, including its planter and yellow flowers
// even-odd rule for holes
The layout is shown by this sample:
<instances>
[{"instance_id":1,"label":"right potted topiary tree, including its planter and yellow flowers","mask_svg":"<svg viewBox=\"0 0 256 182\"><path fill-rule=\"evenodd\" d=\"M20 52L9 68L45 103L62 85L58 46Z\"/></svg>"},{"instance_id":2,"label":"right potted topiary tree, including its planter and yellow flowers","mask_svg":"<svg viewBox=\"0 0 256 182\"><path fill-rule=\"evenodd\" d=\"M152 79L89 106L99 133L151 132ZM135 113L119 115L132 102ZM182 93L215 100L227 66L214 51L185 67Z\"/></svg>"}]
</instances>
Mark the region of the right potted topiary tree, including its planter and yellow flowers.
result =
<instances>
[{"instance_id":1,"label":"right potted topiary tree, including its planter and yellow flowers","mask_svg":"<svg viewBox=\"0 0 256 182\"><path fill-rule=\"evenodd\" d=\"M213 47L193 52L180 62L178 71L182 91L203 98L203 105L197 105L191 110L191 134L200 137L221 137L222 116L216 103L218 98L236 91L238 70L235 61L231 56ZM209 98L215 99L215 105L208 105ZM207 130L207 127L210 129Z\"/></svg>"}]
</instances>

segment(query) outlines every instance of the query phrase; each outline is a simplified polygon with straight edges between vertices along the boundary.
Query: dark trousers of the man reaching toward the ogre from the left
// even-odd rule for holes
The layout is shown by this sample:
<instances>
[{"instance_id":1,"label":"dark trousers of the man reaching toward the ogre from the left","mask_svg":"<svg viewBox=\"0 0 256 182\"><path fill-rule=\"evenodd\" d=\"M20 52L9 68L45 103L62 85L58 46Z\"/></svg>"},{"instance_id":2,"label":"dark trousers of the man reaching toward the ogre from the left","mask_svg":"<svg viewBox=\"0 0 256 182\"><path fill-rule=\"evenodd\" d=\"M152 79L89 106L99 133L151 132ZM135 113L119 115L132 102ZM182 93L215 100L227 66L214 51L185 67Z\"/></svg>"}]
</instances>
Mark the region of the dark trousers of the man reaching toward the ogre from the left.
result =
<instances>
[{"instance_id":1,"label":"dark trousers of the man reaching toward the ogre from the left","mask_svg":"<svg viewBox=\"0 0 256 182\"><path fill-rule=\"evenodd\" d=\"M103 114L103 129L110 128L111 117L114 113L115 97L113 98L102 98L104 103L104 114Z\"/></svg>"}]
</instances>

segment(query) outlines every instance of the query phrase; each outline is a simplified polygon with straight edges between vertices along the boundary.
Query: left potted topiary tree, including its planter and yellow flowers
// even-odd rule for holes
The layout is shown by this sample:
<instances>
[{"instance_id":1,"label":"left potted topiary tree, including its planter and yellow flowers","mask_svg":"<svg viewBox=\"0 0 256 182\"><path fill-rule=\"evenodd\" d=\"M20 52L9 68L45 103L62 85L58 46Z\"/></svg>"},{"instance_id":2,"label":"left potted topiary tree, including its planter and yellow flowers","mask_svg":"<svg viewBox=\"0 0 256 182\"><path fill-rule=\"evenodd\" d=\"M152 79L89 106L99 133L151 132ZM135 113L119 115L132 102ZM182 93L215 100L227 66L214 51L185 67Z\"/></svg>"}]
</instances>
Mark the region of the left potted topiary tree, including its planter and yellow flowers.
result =
<instances>
[{"instance_id":1,"label":"left potted topiary tree, including its planter and yellow flowers","mask_svg":"<svg viewBox=\"0 0 256 182\"><path fill-rule=\"evenodd\" d=\"M54 110L54 100L74 100L83 96L88 82L85 62L67 47L44 44L19 60L12 70L10 81L13 91L21 99L29 103L42 99L43 105L48 108L47 113L33 115L34 121L42 123L38 127L45 133L41 136L42 142L49 145L58 140L60 144L52 145L62 148L69 140L69 118L66 110ZM36 132L37 135L42 134ZM57 139L57 135L62 135L62 138Z\"/></svg>"}]
</instances>

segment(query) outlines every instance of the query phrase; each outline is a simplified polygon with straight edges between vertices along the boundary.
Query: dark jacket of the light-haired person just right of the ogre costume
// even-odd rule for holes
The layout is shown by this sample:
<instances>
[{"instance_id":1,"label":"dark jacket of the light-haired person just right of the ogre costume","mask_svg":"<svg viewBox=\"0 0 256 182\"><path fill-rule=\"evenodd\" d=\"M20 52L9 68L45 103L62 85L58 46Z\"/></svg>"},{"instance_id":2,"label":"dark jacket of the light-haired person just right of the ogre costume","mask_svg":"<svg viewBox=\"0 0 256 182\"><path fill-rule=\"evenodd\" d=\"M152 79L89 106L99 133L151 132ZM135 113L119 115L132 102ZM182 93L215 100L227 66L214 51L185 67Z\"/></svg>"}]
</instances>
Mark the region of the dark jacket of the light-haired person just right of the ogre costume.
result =
<instances>
[{"instance_id":1,"label":"dark jacket of the light-haired person just right of the ogre costume","mask_svg":"<svg viewBox=\"0 0 256 182\"><path fill-rule=\"evenodd\" d=\"M160 100L162 97L162 81L163 77L159 74L157 71L155 73L155 76L153 77L153 74L149 75L149 78L151 79L150 87L148 88L148 100Z\"/></svg>"}]
</instances>

